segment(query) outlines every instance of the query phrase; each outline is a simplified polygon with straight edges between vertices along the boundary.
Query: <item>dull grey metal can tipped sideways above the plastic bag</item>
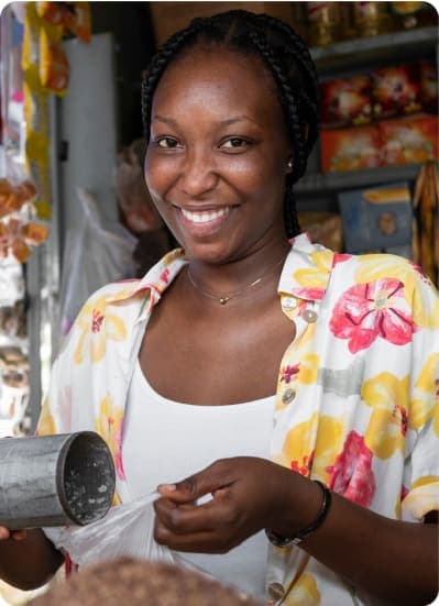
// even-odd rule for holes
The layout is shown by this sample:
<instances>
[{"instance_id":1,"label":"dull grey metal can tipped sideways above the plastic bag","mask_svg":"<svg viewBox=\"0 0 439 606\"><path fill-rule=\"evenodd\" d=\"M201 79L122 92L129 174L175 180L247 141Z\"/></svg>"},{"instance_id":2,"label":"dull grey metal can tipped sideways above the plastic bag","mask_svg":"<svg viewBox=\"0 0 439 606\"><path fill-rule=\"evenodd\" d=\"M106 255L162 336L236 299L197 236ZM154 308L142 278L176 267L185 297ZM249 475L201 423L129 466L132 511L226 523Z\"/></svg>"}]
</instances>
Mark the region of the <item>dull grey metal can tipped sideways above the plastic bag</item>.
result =
<instances>
[{"instance_id":1,"label":"dull grey metal can tipped sideways above the plastic bag","mask_svg":"<svg viewBox=\"0 0 439 606\"><path fill-rule=\"evenodd\" d=\"M0 440L0 526L85 526L102 518L116 487L111 453L80 431Z\"/></svg>"}]
</instances>

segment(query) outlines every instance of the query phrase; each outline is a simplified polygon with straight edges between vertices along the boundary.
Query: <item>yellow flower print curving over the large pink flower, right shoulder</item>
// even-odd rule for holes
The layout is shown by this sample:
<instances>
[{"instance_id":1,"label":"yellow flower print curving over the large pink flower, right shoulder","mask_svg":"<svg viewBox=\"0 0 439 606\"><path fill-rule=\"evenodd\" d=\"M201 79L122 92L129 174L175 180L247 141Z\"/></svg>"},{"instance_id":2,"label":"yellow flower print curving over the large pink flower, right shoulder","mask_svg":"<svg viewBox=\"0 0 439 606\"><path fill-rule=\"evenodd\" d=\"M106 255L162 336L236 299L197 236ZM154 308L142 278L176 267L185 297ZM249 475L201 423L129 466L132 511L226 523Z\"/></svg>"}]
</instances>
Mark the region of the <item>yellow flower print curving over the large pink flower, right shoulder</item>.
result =
<instances>
[{"instance_id":1,"label":"yellow flower print curving over the large pink flower, right shoulder","mask_svg":"<svg viewBox=\"0 0 439 606\"><path fill-rule=\"evenodd\" d=\"M358 284L396 278L404 284L404 296L413 307L413 320L418 327L439 328L439 298L431 296L431 282L408 261L395 255L361 255L355 272Z\"/></svg>"}]
</instances>

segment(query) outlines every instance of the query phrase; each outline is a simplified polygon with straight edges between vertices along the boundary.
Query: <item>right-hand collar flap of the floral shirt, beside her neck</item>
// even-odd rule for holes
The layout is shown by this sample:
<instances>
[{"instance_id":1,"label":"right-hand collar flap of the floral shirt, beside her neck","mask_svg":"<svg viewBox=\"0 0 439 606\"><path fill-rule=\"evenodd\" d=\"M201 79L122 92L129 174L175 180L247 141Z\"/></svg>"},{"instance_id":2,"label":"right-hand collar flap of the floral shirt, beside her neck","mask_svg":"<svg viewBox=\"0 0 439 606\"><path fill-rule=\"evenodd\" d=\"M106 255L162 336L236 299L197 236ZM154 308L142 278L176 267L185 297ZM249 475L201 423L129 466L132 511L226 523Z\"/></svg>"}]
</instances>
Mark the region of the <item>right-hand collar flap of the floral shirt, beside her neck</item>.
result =
<instances>
[{"instance_id":1,"label":"right-hand collar flap of the floral shirt, beside her neck","mask_svg":"<svg viewBox=\"0 0 439 606\"><path fill-rule=\"evenodd\" d=\"M290 240L277 291L308 301L321 300L332 269L334 253L321 244L312 244L308 233Z\"/></svg>"}]
</instances>

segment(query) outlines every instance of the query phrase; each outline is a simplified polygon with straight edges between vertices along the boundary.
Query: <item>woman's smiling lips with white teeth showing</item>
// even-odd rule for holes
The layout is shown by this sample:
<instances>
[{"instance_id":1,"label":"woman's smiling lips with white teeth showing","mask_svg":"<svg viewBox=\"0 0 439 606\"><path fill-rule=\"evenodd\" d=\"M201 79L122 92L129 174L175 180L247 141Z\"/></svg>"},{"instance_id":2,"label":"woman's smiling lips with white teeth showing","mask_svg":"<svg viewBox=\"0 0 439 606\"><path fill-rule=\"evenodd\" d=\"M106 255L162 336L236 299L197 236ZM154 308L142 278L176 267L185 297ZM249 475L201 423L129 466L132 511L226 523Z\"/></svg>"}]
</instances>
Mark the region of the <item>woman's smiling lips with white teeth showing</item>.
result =
<instances>
[{"instance_id":1,"label":"woman's smiling lips with white teeth showing","mask_svg":"<svg viewBox=\"0 0 439 606\"><path fill-rule=\"evenodd\" d=\"M173 205L183 230L193 236L209 236L216 234L227 223L237 208L233 205L200 208L179 207Z\"/></svg>"}]
</instances>

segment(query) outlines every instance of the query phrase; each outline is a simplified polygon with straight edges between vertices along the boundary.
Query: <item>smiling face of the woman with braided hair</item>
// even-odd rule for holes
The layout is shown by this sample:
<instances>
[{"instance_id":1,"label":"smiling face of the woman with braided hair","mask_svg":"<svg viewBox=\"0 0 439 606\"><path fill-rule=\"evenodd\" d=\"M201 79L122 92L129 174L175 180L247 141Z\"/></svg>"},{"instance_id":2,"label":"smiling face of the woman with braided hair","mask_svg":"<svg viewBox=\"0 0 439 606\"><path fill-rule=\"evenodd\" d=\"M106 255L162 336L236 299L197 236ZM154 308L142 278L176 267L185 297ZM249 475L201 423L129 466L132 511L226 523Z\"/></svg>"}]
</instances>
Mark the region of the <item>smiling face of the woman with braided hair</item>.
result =
<instances>
[{"instance_id":1,"label":"smiling face of the woman with braided hair","mask_svg":"<svg viewBox=\"0 0 439 606\"><path fill-rule=\"evenodd\" d=\"M285 240L290 156L275 84L257 57L196 47L166 69L145 179L190 258L226 263Z\"/></svg>"}]
</instances>

